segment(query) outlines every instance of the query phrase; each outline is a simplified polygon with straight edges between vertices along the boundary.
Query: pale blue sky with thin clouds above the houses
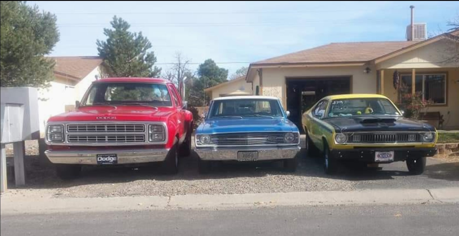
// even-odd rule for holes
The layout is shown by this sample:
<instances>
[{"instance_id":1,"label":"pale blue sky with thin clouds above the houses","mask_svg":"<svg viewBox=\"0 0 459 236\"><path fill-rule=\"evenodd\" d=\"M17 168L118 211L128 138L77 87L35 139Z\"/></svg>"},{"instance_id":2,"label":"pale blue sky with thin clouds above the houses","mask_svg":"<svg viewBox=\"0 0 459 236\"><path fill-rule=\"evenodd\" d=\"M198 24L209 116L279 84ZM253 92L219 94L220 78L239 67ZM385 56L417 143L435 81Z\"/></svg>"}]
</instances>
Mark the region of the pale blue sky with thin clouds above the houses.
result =
<instances>
[{"instance_id":1,"label":"pale blue sky with thin clouds above the houses","mask_svg":"<svg viewBox=\"0 0 459 236\"><path fill-rule=\"evenodd\" d=\"M57 16L61 34L52 56L95 56L113 15L150 39L158 66L175 52L202 63L256 62L331 42L404 40L409 5L430 34L448 29L458 1L28 1ZM194 69L197 65L191 65ZM221 63L233 73L248 63Z\"/></svg>"}]
</instances>

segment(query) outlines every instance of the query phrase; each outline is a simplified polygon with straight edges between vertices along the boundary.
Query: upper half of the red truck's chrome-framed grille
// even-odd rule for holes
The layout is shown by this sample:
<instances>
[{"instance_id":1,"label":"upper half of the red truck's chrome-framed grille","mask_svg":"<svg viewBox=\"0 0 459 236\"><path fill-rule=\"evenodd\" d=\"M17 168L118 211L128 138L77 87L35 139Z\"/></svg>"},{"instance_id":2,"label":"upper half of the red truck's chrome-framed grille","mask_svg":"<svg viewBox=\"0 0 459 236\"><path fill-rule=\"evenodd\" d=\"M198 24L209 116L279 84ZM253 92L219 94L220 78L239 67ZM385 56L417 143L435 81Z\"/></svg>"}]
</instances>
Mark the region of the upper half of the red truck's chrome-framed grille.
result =
<instances>
[{"instance_id":1,"label":"upper half of the red truck's chrome-framed grille","mask_svg":"<svg viewBox=\"0 0 459 236\"><path fill-rule=\"evenodd\" d=\"M145 132L145 124L67 124L67 133Z\"/></svg>"}]
</instances>

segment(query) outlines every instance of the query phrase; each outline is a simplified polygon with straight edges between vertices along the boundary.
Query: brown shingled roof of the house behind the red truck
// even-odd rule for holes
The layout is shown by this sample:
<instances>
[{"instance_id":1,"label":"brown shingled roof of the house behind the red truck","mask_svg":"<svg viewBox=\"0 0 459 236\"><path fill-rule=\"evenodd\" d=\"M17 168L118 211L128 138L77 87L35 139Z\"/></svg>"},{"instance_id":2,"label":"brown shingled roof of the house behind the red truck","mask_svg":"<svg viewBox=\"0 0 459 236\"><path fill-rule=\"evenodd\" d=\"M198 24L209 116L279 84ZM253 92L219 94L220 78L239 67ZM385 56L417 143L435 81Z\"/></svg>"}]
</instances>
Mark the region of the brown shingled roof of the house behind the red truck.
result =
<instances>
[{"instance_id":1,"label":"brown shingled roof of the house behind the red truck","mask_svg":"<svg viewBox=\"0 0 459 236\"><path fill-rule=\"evenodd\" d=\"M102 59L98 56L55 56L50 58L56 60L54 73L73 77L73 79L83 79L102 63Z\"/></svg>"}]
</instances>

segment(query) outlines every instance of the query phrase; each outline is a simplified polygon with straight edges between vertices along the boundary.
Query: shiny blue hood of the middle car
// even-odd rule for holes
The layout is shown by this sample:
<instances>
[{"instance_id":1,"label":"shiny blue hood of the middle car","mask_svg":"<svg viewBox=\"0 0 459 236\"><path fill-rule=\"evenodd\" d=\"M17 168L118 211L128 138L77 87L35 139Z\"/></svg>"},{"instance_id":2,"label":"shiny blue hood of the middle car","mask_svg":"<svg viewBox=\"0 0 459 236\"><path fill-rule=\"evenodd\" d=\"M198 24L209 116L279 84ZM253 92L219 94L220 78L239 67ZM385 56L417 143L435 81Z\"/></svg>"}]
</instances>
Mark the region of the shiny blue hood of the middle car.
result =
<instances>
[{"instance_id":1,"label":"shiny blue hood of the middle car","mask_svg":"<svg viewBox=\"0 0 459 236\"><path fill-rule=\"evenodd\" d=\"M230 118L206 120L196 129L196 133L199 134L269 131L297 132L298 128L290 120L284 118Z\"/></svg>"}]
</instances>

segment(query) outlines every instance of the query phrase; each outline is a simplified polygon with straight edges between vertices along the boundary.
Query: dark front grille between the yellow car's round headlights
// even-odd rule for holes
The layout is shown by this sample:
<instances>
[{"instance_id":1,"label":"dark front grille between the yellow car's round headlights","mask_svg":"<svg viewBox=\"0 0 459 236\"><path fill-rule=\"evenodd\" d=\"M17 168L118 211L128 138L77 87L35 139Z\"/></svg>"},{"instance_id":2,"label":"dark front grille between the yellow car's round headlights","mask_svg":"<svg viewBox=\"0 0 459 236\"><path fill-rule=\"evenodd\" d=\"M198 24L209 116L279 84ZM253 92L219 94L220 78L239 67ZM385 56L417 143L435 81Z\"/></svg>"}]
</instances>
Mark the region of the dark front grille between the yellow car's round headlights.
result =
<instances>
[{"instance_id":1,"label":"dark front grille between the yellow car's round headlights","mask_svg":"<svg viewBox=\"0 0 459 236\"><path fill-rule=\"evenodd\" d=\"M414 143L420 141L419 133L352 133L348 143Z\"/></svg>"}]
</instances>

